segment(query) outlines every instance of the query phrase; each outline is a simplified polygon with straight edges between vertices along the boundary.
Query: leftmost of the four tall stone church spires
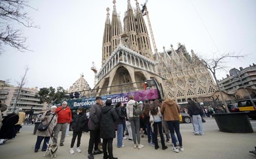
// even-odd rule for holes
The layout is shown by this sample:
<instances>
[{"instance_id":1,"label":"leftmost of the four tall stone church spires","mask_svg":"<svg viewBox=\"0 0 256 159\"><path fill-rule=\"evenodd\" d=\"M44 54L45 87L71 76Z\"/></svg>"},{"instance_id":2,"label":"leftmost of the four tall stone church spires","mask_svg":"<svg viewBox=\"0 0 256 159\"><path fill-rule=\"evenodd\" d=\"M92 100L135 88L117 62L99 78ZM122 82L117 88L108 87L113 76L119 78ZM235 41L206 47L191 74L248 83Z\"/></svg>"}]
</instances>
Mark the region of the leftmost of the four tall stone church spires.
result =
<instances>
[{"instance_id":1,"label":"leftmost of the four tall stone church spires","mask_svg":"<svg viewBox=\"0 0 256 159\"><path fill-rule=\"evenodd\" d=\"M105 21L105 28L104 28L104 35L103 35L103 42L102 42L102 61L101 65L103 65L111 55L111 23L109 19L109 8L106 8L106 21Z\"/></svg>"}]
</instances>

